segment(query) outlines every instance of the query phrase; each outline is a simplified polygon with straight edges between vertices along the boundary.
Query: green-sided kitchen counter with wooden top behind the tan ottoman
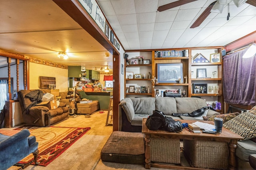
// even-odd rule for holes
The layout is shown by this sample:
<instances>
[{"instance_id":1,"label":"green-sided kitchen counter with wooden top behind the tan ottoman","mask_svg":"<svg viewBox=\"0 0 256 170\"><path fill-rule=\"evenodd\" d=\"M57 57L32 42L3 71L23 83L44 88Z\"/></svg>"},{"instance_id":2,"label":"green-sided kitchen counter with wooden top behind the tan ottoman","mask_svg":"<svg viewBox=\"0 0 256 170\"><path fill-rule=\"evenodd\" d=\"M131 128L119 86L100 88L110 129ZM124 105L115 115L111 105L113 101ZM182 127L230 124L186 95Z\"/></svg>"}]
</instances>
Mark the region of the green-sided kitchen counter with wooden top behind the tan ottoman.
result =
<instances>
[{"instance_id":1,"label":"green-sided kitchen counter with wooden top behind the tan ottoman","mask_svg":"<svg viewBox=\"0 0 256 170\"><path fill-rule=\"evenodd\" d=\"M108 104L110 97L113 96L113 91L106 92L84 92L79 91L81 98L86 98L88 100L98 100L100 104L100 109L108 110Z\"/></svg>"}]
</instances>

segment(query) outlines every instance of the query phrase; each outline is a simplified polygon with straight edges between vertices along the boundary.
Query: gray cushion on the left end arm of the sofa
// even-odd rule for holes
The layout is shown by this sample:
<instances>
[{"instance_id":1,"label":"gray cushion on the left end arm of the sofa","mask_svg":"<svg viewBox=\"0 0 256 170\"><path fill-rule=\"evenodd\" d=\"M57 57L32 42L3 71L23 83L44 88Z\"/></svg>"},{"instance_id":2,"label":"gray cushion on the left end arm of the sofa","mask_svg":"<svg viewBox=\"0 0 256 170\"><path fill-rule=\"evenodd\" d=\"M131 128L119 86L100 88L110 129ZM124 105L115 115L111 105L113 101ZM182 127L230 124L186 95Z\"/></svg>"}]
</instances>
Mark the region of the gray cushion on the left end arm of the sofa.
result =
<instances>
[{"instance_id":1,"label":"gray cushion on the left end arm of the sofa","mask_svg":"<svg viewBox=\"0 0 256 170\"><path fill-rule=\"evenodd\" d=\"M126 117L128 119L128 121L131 123L132 119L134 119L134 107L132 104L132 100L130 98L125 98L124 100L122 100L120 102L122 108L124 109L124 112L126 114Z\"/></svg>"}]
</instances>

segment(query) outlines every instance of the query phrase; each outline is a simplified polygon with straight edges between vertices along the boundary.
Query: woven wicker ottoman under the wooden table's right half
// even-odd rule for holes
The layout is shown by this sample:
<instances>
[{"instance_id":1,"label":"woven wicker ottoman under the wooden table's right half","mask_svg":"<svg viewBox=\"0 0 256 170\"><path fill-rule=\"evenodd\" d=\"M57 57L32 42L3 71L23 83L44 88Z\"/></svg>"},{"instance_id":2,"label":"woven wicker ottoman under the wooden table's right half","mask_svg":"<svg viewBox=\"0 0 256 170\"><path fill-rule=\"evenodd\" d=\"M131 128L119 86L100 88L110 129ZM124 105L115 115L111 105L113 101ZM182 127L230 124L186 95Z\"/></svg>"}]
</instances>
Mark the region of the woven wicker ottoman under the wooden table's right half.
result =
<instances>
[{"instance_id":1,"label":"woven wicker ottoman under the wooden table's right half","mask_svg":"<svg viewBox=\"0 0 256 170\"><path fill-rule=\"evenodd\" d=\"M226 142L183 140L183 152L191 166L227 169L229 148Z\"/></svg>"}]
</instances>

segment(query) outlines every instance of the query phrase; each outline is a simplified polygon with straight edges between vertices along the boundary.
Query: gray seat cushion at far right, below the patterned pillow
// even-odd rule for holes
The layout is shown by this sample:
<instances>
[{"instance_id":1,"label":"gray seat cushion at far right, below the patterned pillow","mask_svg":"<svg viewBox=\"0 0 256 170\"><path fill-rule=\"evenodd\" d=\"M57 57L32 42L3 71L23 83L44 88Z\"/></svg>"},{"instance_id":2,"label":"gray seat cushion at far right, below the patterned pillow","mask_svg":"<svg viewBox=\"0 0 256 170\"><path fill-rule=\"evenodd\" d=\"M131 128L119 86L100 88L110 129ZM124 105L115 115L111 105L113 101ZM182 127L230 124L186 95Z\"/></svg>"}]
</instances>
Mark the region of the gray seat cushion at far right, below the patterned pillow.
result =
<instances>
[{"instance_id":1,"label":"gray seat cushion at far right, below the patterned pillow","mask_svg":"<svg viewBox=\"0 0 256 170\"><path fill-rule=\"evenodd\" d=\"M256 154L256 143L251 140L238 141L236 156L242 160L249 161L250 154Z\"/></svg>"}]
</instances>

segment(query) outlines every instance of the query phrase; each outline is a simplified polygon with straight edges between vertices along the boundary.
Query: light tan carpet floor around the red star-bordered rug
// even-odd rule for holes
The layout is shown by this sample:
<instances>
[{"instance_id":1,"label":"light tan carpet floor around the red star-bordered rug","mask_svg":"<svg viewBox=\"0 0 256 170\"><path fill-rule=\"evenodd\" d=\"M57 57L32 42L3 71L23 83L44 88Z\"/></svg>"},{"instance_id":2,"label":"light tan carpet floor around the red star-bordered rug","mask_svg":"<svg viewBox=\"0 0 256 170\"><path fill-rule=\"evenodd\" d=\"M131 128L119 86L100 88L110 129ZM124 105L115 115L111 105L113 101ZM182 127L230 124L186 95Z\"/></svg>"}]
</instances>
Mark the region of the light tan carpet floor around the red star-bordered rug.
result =
<instances>
[{"instance_id":1,"label":"light tan carpet floor around the red star-bordered rug","mask_svg":"<svg viewBox=\"0 0 256 170\"><path fill-rule=\"evenodd\" d=\"M90 118L78 115L76 118L66 118L52 126L58 127L90 127L76 143L53 160L48 166L30 165L25 170L145 170L144 165L118 164L102 162L100 151L112 133L113 127L106 125L107 111L94 112ZM18 170L12 166L8 170ZM161 168L151 168L160 170Z\"/></svg>"}]
</instances>

